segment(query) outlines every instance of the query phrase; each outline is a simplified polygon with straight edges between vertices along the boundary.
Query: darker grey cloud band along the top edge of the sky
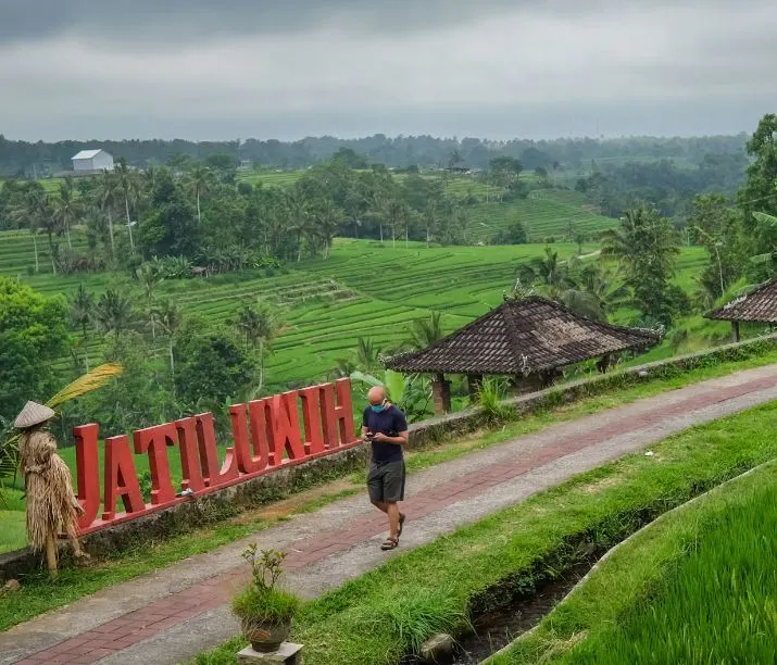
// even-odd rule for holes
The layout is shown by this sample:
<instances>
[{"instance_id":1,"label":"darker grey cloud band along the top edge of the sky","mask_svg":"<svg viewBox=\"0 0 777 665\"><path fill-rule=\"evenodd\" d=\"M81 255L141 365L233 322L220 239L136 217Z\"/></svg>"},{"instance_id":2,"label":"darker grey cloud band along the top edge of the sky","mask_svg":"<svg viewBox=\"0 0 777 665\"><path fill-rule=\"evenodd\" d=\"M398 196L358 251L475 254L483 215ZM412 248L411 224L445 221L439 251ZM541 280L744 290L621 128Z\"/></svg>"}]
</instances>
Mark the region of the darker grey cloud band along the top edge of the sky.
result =
<instances>
[{"instance_id":1,"label":"darker grey cloud band along the top edge of the sky","mask_svg":"<svg viewBox=\"0 0 777 665\"><path fill-rule=\"evenodd\" d=\"M648 1L648 0L644 0ZM672 0L649 0L652 8ZM753 0L691 0L709 11ZM643 0L0 0L0 43L77 35L179 42L218 34L264 35L322 24L385 34L430 30L484 15L523 10L573 20L619 12Z\"/></svg>"}]
</instances>

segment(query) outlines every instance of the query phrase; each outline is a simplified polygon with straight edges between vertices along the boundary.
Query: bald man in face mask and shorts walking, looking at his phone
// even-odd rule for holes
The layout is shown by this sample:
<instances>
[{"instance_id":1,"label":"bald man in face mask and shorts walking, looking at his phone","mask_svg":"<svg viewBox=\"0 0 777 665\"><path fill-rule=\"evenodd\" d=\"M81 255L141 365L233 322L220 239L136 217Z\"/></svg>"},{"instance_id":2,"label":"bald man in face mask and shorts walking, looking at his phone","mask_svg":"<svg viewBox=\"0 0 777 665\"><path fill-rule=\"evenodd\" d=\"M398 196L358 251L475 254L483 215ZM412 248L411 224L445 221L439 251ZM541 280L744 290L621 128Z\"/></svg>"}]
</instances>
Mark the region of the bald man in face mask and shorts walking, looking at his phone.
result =
<instances>
[{"instance_id":1,"label":"bald man in face mask and shorts walking, looking at his phone","mask_svg":"<svg viewBox=\"0 0 777 665\"><path fill-rule=\"evenodd\" d=\"M404 456L408 444L408 421L386 398L386 390L376 386L367 393L369 405L362 418L362 437L373 447L367 491L369 501L389 518L389 536L381 550L393 550L402 535L404 515L398 503L404 500Z\"/></svg>"}]
</instances>

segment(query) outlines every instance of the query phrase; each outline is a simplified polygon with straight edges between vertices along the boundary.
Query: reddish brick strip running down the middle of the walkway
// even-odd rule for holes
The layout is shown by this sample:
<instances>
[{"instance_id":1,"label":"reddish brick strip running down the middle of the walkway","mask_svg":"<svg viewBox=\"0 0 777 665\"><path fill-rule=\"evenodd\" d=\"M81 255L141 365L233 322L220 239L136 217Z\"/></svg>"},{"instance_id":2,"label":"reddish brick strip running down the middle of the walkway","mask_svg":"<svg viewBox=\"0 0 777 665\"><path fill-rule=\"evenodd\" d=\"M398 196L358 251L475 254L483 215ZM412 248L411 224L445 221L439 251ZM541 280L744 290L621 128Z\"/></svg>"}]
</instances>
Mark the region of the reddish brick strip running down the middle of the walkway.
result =
<instances>
[{"instance_id":1,"label":"reddish brick strip running down the middle of the walkway","mask_svg":"<svg viewBox=\"0 0 777 665\"><path fill-rule=\"evenodd\" d=\"M504 455L496 454L502 448L501 446L481 451L479 454L488 455L493 450L498 461L451 479L431 484L408 497L402 509L408 515L405 528L410 528L414 522L423 522L424 518L444 514L451 511L452 506L467 500L485 497L489 490L506 485L529 472L541 469L585 449L601 446L603 442L612 440L613 437L623 437L625 434L651 428L673 417L693 415L702 410L710 410L716 404L730 403L734 404L731 409L736 411L752 405L753 400L757 403L775 399L777 397L777 392L774 390L777 387L777 366L767 369L742 373L745 380L741 382L731 382L729 377L724 380L707 381L705 382L707 386L705 384L697 385L695 389L675 391L672 393L674 399L651 398L655 402L654 407L649 410L631 409L628 413L621 414L621 417L615 417L617 409L604 412L599 418L589 416L586 418L588 426L575 428L567 425L562 436L551 438L534 449L527 447L524 454L513 455L506 461ZM741 406L735 404L736 400L748 396L755 397ZM644 402L649 402L649 400ZM627 407L623 407L623 410L626 412ZM703 418L700 417L701 421ZM521 441L518 439L511 443L519 444ZM452 465L452 463L449 464ZM444 467L446 464L439 466ZM579 473L579 470L573 469L567 477ZM286 568L290 573L289 577L293 577L296 572L301 573L314 567L328 557L347 553L354 547L385 532L385 516L377 511L369 511L347 518L341 523L340 528L325 530L321 535L288 543L283 549L288 554ZM161 574L164 575L164 572ZM167 593L156 600L149 600L148 604L121 614L103 624L93 625L91 628L48 648L37 651L23 649L26 653L22 657L4 660L0 649L0 663L86 664L103 658L108 658L110 662L123 662L122 654L134 645L152 638L159 639L166 631L180 628L190 619L206 616L209 611L223 607L245 580L245 566L236 565L234 568L210 578L195 580L196 584L191 584L187 588ZM66 615L66 608L64 612ZM33 622L36 620L38 619L33 619ZM20 628L21 639L23 639L24 626ZM12 631L16 629L12 629ZM0 648L2 645L3 641L0 639Z\"/></svg>"}]
</instances>

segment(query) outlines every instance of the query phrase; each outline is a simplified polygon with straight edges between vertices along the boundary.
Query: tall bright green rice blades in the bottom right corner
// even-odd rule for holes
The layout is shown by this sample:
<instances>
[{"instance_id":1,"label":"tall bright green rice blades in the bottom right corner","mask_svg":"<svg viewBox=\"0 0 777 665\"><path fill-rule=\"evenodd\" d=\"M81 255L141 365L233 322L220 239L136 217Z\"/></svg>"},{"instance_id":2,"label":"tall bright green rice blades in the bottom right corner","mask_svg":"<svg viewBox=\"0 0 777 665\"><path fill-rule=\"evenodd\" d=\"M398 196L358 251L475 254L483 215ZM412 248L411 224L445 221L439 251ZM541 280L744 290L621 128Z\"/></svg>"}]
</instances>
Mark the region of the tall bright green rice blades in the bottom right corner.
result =
<instances>
[{"instance_id":1,"label":"tall bright green rice blades in the bottom right corner","mask_svg":"<svg viewBox=\"0 0 777 665\"><path fill-rule=\"evenodd\" d=\"M561 662L774 663L777 661L776 474L748 488L688 556L623 617ZM680 547L682 543L678 543Z\"/></svg>"}]
</instances>

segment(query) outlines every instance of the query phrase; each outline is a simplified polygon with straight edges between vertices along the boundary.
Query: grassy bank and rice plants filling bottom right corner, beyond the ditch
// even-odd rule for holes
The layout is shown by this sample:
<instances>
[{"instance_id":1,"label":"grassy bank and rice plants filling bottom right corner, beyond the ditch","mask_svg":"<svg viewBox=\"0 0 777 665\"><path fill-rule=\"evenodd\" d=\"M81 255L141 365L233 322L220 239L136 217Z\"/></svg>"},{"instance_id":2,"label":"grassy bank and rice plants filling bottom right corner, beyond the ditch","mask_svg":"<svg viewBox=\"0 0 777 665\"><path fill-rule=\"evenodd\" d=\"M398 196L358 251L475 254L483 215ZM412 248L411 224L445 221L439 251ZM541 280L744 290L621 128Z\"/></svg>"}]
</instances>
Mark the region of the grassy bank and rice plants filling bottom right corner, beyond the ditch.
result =
<instances>
[{"instance_id":1,"label":"grassy bank and rice plants filling bottom right corner, beyond the ditch","mask_svg":"<svg viewBox=\"0 0 777 665\"><path fill-rule=\"evenodd\" d=\"M769 463L654 523L490 665L773 662L776 481Z\"/></svg>"}]
</instances>

